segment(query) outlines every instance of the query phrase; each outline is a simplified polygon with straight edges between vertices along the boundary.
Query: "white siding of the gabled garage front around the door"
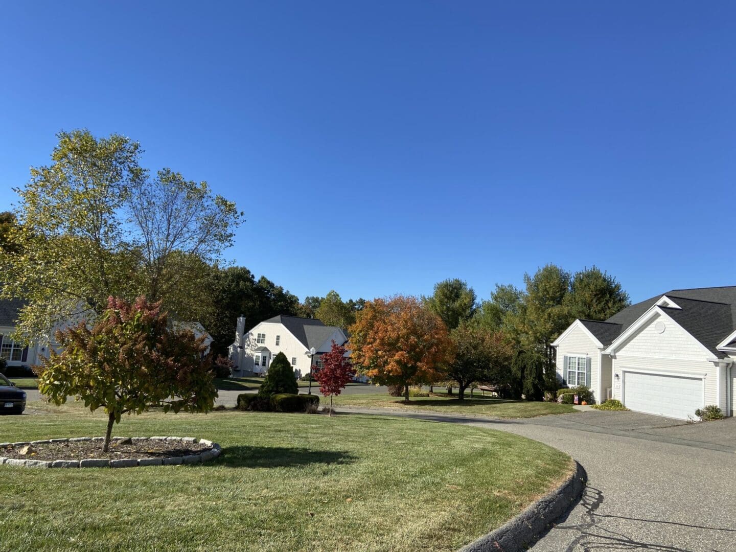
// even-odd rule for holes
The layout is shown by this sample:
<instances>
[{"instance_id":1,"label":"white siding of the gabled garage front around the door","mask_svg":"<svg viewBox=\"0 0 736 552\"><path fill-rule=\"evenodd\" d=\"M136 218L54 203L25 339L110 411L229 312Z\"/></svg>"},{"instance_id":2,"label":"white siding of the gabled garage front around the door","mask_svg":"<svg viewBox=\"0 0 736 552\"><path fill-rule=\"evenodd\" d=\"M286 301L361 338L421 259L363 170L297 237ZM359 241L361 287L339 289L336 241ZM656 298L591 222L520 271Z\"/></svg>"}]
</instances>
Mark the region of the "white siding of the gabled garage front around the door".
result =
<instances>
[{"instance_id":1,"label":"white siding of the gabled garage front around the door","mask_svg":"<svg viewBox=\"0 0 736 552\"><path fill-rule=\"evenodd\" d=\"M657 322L665 325L664 332L657 332ZM613 396L623 400L622 369L643 369L673 375L704 374L704 403L725 408L725 390L718 386L719 369L707 360L712 356L673 320L667 316L656 316L616 351L613 361ZM657 389L652 389L651 392L656 393Z\"/></svg>"}]
</instances>

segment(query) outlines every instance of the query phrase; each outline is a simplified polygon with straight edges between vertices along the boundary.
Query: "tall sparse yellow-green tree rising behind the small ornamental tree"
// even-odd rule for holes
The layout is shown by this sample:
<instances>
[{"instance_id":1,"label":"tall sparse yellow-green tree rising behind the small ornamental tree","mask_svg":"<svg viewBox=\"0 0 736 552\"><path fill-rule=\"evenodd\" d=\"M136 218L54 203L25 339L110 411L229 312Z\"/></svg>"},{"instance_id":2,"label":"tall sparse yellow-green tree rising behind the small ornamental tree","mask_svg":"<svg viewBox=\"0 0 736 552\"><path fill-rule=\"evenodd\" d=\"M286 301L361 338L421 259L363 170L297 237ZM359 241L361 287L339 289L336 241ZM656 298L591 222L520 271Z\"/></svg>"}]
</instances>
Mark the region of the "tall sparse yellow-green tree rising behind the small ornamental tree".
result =
<instances>
[{"instance_id":1,"label":"tall sparse yellow-green tree rising behind the small ornamental tree","mask_svg":"<svg viewBox=\"0 0 736 552\"><path fill-rule=\"evenodd\" d=\"M178 319L197 318L209 263L242 222L233 202L169 169L150 178L130 138L88 130L57 137L52 163L32 168L16 190L10 239L23 255L0 254L0 296L27 300L16 334L94 319L108 297L146 295Z\"/></svg>"}]
</instances>

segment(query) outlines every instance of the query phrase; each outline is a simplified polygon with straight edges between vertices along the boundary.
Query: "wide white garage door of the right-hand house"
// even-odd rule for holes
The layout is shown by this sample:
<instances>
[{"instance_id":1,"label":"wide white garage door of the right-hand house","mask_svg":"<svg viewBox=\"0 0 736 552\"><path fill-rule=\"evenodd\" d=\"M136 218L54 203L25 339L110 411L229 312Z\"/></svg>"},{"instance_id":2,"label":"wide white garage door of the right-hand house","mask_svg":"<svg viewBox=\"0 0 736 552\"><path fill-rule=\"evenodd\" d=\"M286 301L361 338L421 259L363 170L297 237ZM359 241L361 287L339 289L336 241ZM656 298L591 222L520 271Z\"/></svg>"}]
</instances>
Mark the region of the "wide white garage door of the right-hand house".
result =
<instances>
[{"instance_id":1,"label":"wide white garage door of the right-hand house","mask_svg":"<svg viewBox=\"0 0 736 552\"><path fill-rule=\"evenodd\" d=\"M637 412L687 420L703 408L703 380L623 372L623 404Z\"/></svg>"}]
</instances>

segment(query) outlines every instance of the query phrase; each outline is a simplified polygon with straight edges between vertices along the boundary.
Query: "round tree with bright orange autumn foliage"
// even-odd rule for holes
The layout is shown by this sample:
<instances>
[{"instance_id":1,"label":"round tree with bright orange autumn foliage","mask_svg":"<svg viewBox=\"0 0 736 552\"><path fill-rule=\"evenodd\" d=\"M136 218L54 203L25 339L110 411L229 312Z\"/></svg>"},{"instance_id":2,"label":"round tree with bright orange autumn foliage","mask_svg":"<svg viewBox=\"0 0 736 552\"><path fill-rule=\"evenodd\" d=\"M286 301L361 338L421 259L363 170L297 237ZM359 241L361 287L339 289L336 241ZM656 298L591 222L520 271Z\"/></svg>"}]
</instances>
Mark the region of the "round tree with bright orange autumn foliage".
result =
<instances>
[{"instance_id":1,"label":"round tree with bright orange autumn foliage","mask_svg":"<svg viewBox=\"0 0 736 552\"><path fill-rule=\"evenodd\" d=\"M350 326L351 360L383 385L409 386L442 379L453 342L442 319L416 297L368 301Z\"/></svg>"}]
</instances>

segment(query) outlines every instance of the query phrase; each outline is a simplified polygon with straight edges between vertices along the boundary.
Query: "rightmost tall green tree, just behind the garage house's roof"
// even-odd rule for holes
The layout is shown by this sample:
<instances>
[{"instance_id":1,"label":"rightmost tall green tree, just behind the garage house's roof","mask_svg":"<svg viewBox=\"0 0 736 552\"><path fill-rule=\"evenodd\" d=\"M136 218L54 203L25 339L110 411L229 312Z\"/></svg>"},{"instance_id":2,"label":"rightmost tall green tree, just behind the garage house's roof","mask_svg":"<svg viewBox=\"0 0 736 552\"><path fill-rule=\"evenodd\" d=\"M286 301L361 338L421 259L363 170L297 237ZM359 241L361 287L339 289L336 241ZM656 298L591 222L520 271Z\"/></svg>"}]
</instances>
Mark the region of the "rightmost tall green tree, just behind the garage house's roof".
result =
<instances>
[{"instance_id":1,"label":"rightmost tall green tree, just behind the garage house's roof","mask_svg":"<svg viewBox=\"0 0 736 552\"><path fill-rule=\"evenodd\" d=\"M631 304L629 294L615 277L597 266L573 275L564 302L570 322L578 318L605 320Z\"/></svg>"}]
</instances>

